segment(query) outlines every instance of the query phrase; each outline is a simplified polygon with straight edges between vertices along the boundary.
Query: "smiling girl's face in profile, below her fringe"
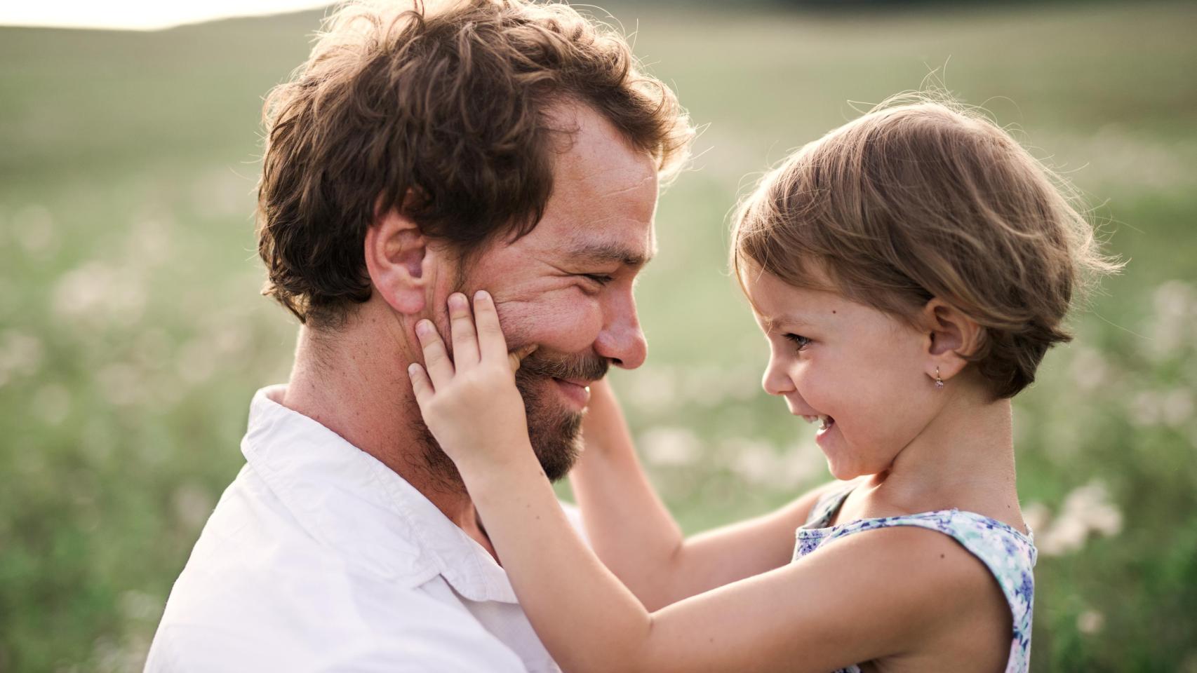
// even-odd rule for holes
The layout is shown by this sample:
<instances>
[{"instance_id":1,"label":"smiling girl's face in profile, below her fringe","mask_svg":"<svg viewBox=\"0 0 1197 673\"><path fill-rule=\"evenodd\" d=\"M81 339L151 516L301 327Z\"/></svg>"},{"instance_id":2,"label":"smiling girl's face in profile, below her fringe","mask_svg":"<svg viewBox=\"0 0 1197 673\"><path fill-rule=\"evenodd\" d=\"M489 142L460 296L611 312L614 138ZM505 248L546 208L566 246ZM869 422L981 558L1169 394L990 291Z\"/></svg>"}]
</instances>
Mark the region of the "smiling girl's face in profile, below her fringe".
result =
<instances>
[{"instance_id":1,"label":"smiling girl's face in profile, below her fringe","mask_svg":"<svg viewBox=\"0 0 1197 673\"><path fill-rule=\"evenodd\" d=\"M770 347L765 392L819 428L836 478L889 469L942 405L925 373L930 330L767 273L746 286Z\"/></svg>"}]
</instances>

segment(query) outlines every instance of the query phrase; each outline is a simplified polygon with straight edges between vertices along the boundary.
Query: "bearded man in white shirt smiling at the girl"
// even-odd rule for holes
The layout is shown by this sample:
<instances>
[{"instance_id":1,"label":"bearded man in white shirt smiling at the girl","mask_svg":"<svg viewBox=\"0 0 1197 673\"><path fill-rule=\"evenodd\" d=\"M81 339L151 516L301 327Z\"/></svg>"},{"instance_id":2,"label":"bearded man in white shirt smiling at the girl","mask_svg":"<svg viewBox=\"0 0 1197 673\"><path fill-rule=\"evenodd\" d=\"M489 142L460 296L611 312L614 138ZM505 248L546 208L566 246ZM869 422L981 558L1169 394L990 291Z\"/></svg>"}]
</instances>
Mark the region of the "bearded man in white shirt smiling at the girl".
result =
<instances>
[{"instance_id":1,"label":"bearded man in white shirt smiling at the girl","mask_svg":"<svg viewBox=\"0 0 1197 673\"><path fill-rule=\"evenodd\" d=\"M551 478L587 385L645 356L632 299L692 129L565 5L340 8L267 100L259 247L303 324L176 582L148 671L557 671L407 379L488 289Z\"/></svg>"}]
</instances>

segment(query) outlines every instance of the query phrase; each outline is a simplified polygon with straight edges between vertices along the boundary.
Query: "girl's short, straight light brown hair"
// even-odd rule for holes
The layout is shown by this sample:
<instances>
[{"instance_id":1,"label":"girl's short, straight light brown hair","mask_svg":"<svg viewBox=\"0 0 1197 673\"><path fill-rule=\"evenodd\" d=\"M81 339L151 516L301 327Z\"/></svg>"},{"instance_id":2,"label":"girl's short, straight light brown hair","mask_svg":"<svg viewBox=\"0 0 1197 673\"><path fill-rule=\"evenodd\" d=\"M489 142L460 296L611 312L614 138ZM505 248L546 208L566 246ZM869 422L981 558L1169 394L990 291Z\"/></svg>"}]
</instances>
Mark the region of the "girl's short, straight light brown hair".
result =
<instances>
[{"instance_id":1,"label":"girl's short, straight light brown hair","mask_svg":"<svg viewBox=\"0 0 1197 673\"><path fill-rule=\"evenodd\" d=\"M741 204L731 262L901 317L938 298L982 326L997 397L1035 378L1078 290L1119 263L1071 189L980 112L906 94L814 141ZM831 287L826 287L830 280Z\"/></svg>"}]
</instances>

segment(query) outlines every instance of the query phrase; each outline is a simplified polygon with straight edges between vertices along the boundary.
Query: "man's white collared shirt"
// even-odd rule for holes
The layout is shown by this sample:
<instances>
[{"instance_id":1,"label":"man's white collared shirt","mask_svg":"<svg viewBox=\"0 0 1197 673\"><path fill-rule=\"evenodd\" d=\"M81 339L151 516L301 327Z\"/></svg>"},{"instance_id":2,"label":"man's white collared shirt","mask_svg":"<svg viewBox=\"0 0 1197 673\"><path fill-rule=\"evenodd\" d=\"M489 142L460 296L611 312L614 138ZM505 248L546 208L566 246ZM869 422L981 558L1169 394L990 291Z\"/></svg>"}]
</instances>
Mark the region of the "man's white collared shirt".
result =
<instances>
[{"instance_id":1,"label":"man's white collared shirt","mask_svg":"<svg viewBox=\"0 0 1197 673\"><path fill-rule=\"evenodd\" d=\"M254 396L146 671L558 672L494 558L284 390Z\"/></svg>"}]
</instances>

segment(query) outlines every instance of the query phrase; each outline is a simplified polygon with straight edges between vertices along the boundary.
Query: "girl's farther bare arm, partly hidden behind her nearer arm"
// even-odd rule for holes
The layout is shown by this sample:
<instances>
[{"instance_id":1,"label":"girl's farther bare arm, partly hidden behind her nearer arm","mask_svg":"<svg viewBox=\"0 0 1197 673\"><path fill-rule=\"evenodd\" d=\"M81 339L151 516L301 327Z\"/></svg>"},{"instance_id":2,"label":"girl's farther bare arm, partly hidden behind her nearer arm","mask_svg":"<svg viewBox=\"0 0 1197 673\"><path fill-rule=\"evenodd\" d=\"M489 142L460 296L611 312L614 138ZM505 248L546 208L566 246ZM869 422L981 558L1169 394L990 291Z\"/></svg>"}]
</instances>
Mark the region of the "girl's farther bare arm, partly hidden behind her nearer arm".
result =
<instances>
[{"instance_id":1,"label":"girl's farther bare arm, partly hidden behind her nearer arm","mask_svg":"<svg viewBox=\"0 0 1197 673\"><path fill-rule=\"evenodd\" d=\"M570 473L590 544L648 610L785 565L821 487L765 516L683 538L636 455L607 381L590 386L585 452Z\"/></svg>"}]
</instances>

